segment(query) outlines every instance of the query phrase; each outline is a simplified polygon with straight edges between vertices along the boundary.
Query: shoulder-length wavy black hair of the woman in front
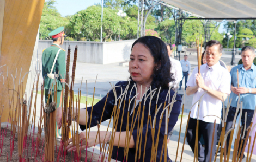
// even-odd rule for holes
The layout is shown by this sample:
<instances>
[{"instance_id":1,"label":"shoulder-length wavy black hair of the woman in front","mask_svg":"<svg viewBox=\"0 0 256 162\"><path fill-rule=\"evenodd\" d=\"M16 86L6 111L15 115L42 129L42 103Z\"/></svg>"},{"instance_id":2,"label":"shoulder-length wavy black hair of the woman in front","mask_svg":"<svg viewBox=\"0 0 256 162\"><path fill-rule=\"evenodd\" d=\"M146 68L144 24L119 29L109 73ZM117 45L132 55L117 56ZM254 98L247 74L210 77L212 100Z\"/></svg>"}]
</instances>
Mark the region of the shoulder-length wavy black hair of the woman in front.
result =
<instances>
[{"instance_id":1,"label":"shoulder-length wavy black hair of the woman in front","mask_svg":"<svg viewBox=\"0 0 256 162\"><path fill-rule=\"evenodd\" d=\"M174 79L172 78L173 73L170 73L171 64L166 44L162 40L160 40L160 38L157 38L155 36L144 36L138 38L138 40L136 40L132 44L132 48L133 46L135 46L136 43L141 43L146 48L148 48L151 55L154 57L154 63L161 64L160 67L155 66L153 69L153 74L151 75L151 77L153 77L153 81L151 82L151 88L168 88L169 82L174 81ZM131 83L134 82L131 76L130 79ZM133 83L131 83L130 85L133 86Z\"/></svg>"}]
</instances>

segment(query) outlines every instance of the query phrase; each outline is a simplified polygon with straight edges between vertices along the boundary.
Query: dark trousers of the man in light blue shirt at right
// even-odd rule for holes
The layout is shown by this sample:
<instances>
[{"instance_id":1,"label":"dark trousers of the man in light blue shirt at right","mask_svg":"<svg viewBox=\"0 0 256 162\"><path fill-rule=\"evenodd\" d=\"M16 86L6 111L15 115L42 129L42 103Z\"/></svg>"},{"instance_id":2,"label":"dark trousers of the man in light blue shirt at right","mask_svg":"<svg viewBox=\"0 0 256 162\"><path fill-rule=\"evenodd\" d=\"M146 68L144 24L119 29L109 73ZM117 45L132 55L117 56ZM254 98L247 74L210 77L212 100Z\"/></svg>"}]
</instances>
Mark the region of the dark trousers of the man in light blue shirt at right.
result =
<instances>
[{"instance_id":1,"label":"dark trousers of the man in light blue shirt at right","mask_svg":"<svg viewBox=\"0 0 256 162\"><path fill-rule=\"evenodd\" d=\"M228 112L228 116L227 116L227 122L226 122L226 130L225 130L225 133L228 132L228 130L232 127L232 124L233 124L233 120L234 120L234 117L235 117L235 112L236 112L236 107L232 107L230 106L229 108L229 112ZM251 110L251 109L243 109L242 111L242 117L241 117L241 125L244 127L245 126L245 112L247 112L247 121L246 121L246 128L248 128L248 126L251 124L251 121L252 121L252 118L253 118L253 113L254 113L254 110ZM238 114L240 113L240 110L238 112ZM236 116L236 118L238 117L238 114ZM240 114L241 115L241 114ZM240 126L239 126L240 127ZM241 136L243 134L243 131L241 131ZM247 131L245 131L245 138L246 138L246 134L247 134ZM235 136L235 132L234 132L234 136ZM228 149L228 145L229 145L229 139L230 139L230 133L227 137L227 149ZM241 144L241 138L239 140L239 147L240 147L240 144ZM243 145L246 145L247 144L247 141L243 141ZM242 148L243 148L243 145L242 145Z\"/></svg>"}]
</instances>

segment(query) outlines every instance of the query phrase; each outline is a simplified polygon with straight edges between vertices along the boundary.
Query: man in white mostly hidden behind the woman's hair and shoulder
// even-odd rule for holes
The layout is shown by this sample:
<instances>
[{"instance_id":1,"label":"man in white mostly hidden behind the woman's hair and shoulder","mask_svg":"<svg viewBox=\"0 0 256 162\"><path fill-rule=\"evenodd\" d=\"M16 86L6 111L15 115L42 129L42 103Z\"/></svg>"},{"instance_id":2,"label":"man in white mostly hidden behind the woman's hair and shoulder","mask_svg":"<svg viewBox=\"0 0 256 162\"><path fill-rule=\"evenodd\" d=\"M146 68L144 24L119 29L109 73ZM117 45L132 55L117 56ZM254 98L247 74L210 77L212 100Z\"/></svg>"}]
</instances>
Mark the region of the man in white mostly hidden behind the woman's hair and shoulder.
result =
<instances>
[{"instance_id":1,"label":"man in white mostly hidden behind the woman's hair and shoulder","mask_svg":"<svg viewBox=\"0 0 256 162\"><path fill-rule=\"evenodd\" d=\"M183 77L182 68L181 68L180 62L172 58L172 53L173 53L172 44L166 44L166 47L168 50L170 63L172 65L170 69L170 73L173 73L173 78L175 79L175 81L169 83L169 86L172 86L172 89L176 91L179 88L179 82L182 80L182 77Z\"/></svg>"}]
</instances>

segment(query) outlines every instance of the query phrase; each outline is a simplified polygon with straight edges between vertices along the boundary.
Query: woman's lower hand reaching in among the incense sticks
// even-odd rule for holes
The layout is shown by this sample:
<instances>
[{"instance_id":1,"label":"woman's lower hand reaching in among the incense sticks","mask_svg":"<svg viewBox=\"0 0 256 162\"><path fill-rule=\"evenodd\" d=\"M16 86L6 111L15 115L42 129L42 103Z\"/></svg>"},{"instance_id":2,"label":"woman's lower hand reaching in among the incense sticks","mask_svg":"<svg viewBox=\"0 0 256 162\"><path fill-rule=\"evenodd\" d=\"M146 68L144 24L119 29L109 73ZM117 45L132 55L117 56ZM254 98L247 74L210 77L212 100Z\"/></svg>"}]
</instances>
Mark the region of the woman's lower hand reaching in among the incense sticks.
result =
<instances>
[{"instance_id":1,"label":"woman's lower hand reaching in among the incense sticks","mask_svg":"<svg viewBox=\"0 0 256 162\"><path fill-rule=\"evenodd\" d=\"M87 131L87 135L86 135L86 132L81 132L79 134L79 143L82 146L79 146L79 147L81 147L82 149L86 149L86 144L87 144L87 139L86 138L88 138L88 144L87 144L88 148L92 147L94 145L97 145L99 143L103 143L104 138L105 138L105 134L106 134L106 131L100 131L100 139L99 139L99 134L97 135L97 131L90 131L90 137L89 138L88 138L88 131ZM108 141L108 139L110 137L109 134L110 134L110 132L107 133L105 143ZM97 140L95 142L96 136L97 136ZM76 146L74 146L74 144L72 143L73 138L75 138L75 137L72 137L68 140L68 146L66 147L66 149L68 151L75 150L75 148L76 148ZM82 140L82 143L81 143L81 140Z\"/></svg>"}]
</instances>

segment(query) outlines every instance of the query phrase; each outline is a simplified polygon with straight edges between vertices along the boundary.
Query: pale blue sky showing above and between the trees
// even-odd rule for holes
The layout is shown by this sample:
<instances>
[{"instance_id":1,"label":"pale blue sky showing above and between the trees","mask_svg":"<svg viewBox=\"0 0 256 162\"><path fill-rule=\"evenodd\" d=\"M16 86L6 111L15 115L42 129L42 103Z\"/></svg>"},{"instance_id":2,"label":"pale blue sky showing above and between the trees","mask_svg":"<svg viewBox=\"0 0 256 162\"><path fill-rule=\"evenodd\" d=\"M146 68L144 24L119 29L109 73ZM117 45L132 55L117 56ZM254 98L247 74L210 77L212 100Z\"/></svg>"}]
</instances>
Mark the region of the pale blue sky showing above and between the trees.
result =
<instances>
[{"instance_id":1,"label":"pale blue sky showing above and between the trees","mask_svg":"<svg viewBox=\"0 0 256 162\"><path fill-rule=\"evenodd\" d=\"M77 11L84 10L95 3L101 4L101 0L57 0L56 2L56 8L62 16L74 15ZM224 23L221 23L218 29L220 33L225 31L223 25Z\"/></svg>"}]
</instances>

